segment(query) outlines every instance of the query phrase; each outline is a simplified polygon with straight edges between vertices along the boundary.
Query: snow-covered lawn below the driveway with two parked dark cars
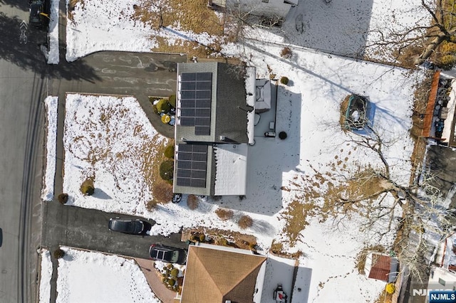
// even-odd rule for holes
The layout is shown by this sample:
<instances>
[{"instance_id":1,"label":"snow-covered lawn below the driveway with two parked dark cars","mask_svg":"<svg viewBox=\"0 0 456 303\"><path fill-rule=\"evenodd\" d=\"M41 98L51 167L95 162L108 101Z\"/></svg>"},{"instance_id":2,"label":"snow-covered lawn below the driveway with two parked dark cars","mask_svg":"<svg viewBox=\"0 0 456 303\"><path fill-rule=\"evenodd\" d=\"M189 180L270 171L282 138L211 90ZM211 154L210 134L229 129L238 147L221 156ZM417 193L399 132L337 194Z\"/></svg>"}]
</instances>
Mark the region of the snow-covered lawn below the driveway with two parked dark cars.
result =
<instances>
[{"instance_id":1,"label":"snow-covered lawn below the driveway with two parked dark cars","mask_svg":"<svg viewBox=\"0 0 456 303\"><path fill-rule=\"evenodd\" d=\"M62 248L58 260L58 303L160 302L135 260Z\"/></svg>"}]
</instances>

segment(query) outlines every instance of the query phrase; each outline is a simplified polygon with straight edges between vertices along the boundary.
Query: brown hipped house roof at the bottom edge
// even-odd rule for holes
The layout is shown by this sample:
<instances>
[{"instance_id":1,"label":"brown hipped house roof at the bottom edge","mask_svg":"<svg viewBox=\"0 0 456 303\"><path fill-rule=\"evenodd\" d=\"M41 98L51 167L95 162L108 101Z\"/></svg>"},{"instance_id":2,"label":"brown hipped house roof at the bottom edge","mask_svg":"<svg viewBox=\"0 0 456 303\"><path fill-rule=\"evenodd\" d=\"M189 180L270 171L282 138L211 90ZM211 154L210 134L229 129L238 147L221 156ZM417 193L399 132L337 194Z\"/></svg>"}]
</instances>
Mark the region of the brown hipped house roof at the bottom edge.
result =
<instances>
[{"instance_id":1,"label":"brown hipped house roof at the bottom edge","mask_svg":"<svg viewBox=\"0 0 456 303\"><path fill-rule=\"evenodd\" d=\"M181 302L252 302L266 257L243 251L190 245Z\"/></svg>"}]
</instances>

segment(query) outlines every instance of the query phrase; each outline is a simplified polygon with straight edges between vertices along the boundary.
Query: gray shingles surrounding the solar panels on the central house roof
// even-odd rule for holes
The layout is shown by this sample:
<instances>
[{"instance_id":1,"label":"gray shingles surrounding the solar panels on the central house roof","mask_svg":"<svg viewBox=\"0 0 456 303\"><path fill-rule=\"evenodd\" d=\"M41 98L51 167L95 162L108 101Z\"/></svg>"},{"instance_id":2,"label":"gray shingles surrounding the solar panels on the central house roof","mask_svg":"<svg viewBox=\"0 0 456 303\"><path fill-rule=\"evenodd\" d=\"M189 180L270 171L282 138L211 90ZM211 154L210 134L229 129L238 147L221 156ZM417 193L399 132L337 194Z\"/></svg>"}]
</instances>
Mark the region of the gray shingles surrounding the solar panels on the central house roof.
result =
<instances>
[{"instance_id":1,"label":"gray shingles surrounding the solar panels on the central house roof","mask_svg":"<svg viewBox=\"0 0 456 303\"><path fill-rule=\"evenodd\" d=\"M175 144L195 143L208 144L207 181L205 188L177 186L174 182L175 193L192 193L195 195L212 196L214 194L215 161L212 144L216 143L248 143L247 111L253 110L247 105L247 93L243 75L234 71L235 68L227 63L179 63L177 65L178 80L182 73L212 73L212 107L211 132L209 135L196 135L195 127L179 125L176 117ZM177 83L179 85L179 81ZM179 86L177 87L179 91ZM177 107L180 100L177 94ZM222 141L224 137L225 141ZM177 165L175 165L175 179Z\"/></svg>"}]
</instances>

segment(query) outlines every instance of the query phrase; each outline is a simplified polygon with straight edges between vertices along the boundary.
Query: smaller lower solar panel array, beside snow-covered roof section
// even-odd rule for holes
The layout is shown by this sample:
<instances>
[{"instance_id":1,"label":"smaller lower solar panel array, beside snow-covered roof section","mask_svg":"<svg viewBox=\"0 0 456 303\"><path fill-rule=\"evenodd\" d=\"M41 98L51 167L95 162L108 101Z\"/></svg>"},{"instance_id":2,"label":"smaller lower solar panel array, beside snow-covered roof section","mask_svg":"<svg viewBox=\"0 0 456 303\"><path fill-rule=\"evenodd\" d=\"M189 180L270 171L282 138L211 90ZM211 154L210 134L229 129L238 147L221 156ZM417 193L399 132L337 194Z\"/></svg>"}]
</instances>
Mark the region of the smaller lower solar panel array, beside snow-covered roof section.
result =
<instances>
[{"instance_id":1,"label":"smaller lower solar panel array, beside snow-covered roof section","mask_svg":"<svg viewBox=\"0 0 456 303\"><path fill-rule=\"evenodd\" d=\"M178 186L206 187L207 145L177 144Z\"/></svg>"}]
</instances>

